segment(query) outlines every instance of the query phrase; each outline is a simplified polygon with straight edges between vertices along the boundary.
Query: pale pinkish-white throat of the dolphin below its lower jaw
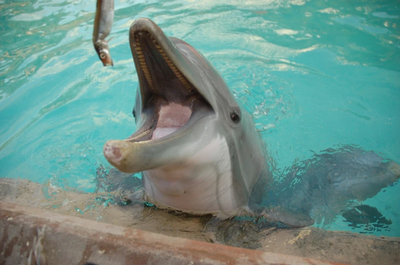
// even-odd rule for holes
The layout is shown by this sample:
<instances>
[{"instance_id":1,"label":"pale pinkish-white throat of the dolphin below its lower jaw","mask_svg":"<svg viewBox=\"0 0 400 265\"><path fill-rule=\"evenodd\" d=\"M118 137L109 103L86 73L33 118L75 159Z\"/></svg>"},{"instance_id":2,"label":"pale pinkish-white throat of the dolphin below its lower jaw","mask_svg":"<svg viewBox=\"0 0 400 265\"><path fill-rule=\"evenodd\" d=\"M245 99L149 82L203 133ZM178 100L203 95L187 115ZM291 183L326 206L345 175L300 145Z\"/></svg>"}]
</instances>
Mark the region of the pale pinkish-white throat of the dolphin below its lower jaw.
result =
<instances>
[{"instance_id":1,"label":"pale pinkish-white throat of the dolphin below its lower jaw","mask_svg":"<svg viewBox=\"0 0 400 265\"><path fill-rule=\"evenodd\" d=\"M231 216L243 205L237 205L227 140L221 136L181 163L169 164L143 172L146 199L161 208L197 214ZM190 150L181 150L193 153ZM172 154L171 154L172 155Z\"/></svg>"}]
</instances>

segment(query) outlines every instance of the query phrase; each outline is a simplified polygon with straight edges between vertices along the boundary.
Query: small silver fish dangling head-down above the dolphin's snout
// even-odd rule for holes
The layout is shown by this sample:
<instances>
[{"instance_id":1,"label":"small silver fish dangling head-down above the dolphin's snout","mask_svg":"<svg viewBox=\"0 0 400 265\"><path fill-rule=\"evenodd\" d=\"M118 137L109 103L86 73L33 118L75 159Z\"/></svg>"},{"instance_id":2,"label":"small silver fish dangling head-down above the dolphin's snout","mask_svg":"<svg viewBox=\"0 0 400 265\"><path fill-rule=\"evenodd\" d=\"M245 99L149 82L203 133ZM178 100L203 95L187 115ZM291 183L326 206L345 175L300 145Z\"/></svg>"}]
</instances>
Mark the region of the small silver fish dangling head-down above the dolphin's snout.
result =
<instances>
[{"instance_id":1,"label":"small silver fish dangling head-down above the dolphin's snout","mask_svg":"<svg viewBox=\"0 0 400 265\"><path fill-rule=\"evenodd\" d=\"M97 0L93 27L93 45L103 65L113 66L108 43L105 40L111 32L114 20L114 0Z\"/></svg>"}]
</instances>

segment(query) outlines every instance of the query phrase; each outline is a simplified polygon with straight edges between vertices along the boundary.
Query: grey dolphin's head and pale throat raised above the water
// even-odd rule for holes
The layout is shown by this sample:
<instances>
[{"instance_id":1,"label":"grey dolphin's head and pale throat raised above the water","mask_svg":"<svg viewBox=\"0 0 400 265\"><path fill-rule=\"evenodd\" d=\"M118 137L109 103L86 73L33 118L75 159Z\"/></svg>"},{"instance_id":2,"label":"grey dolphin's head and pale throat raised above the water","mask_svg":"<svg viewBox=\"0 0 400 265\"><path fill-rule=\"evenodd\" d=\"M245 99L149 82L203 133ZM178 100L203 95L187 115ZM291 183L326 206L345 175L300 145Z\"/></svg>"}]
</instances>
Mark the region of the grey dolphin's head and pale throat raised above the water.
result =
<instances>
[{"instance_id":1,"label":"grey dolphin's head and pale throat raised above the water","mask_svg":"<svg viewBox=\"0 0 400 265\"><path fill-rule=\"evenodd\" d=\"M265 166L251 115L201 53L153 21L135 20L129 41L137 131L106 142L106 159L143 171L143 188L164 207L228 215L245 207Z\"/></svg>"}]
</instances>

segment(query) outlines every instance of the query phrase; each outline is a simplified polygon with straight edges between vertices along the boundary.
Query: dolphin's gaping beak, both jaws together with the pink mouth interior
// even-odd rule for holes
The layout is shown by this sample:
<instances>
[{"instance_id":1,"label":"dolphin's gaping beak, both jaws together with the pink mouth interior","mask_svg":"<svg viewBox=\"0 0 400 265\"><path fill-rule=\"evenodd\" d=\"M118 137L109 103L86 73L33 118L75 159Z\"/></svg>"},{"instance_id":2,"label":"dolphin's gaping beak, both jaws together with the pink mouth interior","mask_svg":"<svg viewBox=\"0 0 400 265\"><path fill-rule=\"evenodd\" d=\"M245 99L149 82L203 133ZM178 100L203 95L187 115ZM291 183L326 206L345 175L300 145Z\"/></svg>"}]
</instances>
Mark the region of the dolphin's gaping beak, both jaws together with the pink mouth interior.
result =
<instances>
[{"instance_id":1,"label":"dolphin's gaping beak, both jaws together with the pink mouth interior","mask_svg":"<svg viewBox=\"0 0 400 265\"><path fill-rule=\"evenodd\" d=\"M174 44L178 39L144 18L131 25L129 36L139 78L133 110L137 130L125 140L106 142L103 153L120 171L139 172L182 160L184 154L170 155L171 146L201 138L204 118L215 112L200 92L198 73ZM182 41L179 45L192 49Z\"/></svg>"}]
</instances>

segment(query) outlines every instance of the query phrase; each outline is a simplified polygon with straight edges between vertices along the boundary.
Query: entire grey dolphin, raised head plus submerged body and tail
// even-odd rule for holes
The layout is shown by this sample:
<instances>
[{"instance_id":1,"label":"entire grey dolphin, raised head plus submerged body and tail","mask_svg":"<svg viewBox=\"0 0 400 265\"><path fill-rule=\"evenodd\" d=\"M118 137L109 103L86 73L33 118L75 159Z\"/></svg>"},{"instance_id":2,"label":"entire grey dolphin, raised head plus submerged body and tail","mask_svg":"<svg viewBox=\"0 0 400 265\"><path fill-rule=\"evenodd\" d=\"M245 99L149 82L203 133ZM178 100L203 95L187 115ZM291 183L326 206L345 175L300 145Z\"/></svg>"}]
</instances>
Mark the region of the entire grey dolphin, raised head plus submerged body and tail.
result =
<instances>
[{"instance_id":1,"label":"entire grey dolphin, raised head plus submerged body and tail","mask_svg":"<svg viewBox=\"0 0 400 265\"><path fill-rule=\"evenodd\" d=\"M343 147L307 161L301 176L293 167L276 181L252 116L201 53L146 18L132 23L129 43L139 80L137 130L107 141L103 153L122 172L142 172L144 199L159 208L307 226L319 201L344 206L400 176L398 164Z\"/></svg>"}]
</instances>

